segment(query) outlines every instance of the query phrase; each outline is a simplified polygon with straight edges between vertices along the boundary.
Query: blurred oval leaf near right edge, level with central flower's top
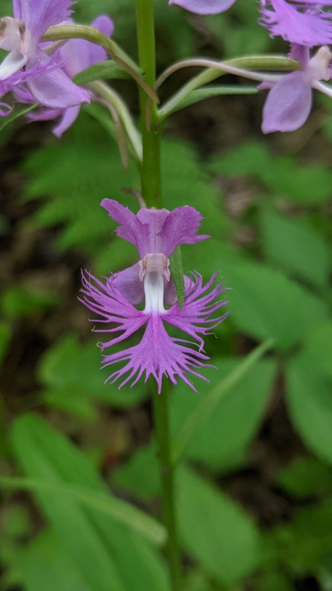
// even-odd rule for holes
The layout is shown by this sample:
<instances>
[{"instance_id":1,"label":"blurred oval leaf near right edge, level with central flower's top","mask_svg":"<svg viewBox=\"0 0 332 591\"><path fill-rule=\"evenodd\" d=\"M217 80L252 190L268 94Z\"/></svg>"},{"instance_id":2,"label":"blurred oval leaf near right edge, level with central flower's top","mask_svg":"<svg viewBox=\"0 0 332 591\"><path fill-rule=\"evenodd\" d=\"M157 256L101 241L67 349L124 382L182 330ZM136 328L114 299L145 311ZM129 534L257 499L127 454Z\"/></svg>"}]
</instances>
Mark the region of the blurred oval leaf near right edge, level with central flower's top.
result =
<instances>
[{"instance_id":1,"label":"blurred oval leaf near right edge, level with central flower's top","mask_svg":"<svg viewBox=\"0 0 332 591\"><path fill-rule=\"evenodd\" d=\"M323 287L328 282L331 255L324 241L297 219L272 209L261 213L262 248L265 256L295 276Z\"/></svg>"}]
</instances>

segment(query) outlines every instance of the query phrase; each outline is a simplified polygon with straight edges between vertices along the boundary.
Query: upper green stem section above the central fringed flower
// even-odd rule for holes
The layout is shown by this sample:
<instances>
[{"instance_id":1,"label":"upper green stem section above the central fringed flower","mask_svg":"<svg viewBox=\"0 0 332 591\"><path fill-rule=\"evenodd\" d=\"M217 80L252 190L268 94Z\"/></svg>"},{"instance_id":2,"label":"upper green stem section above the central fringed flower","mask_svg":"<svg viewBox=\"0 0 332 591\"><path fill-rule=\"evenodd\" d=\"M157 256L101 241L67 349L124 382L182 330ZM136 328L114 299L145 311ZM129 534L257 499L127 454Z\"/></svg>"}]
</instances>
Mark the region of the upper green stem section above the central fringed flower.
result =
<instances>
[{"instance_id":1,"label":"upper green stem section above the central fringed flower","mask_svg":"<svg viewBox=\"0 0 332 591\"><path fill-rule=\"evenodd\" d=\"M155 34L153 0L136 0L139 65L144 80L149 86L155 83ZM142 196L148 207L160 207L160 130L157 120L157 105L153 103L151 131L145 125L145 110L148 96L139 89L143 141L143 164L141 170Z\"/></svg>"}]
</instances>

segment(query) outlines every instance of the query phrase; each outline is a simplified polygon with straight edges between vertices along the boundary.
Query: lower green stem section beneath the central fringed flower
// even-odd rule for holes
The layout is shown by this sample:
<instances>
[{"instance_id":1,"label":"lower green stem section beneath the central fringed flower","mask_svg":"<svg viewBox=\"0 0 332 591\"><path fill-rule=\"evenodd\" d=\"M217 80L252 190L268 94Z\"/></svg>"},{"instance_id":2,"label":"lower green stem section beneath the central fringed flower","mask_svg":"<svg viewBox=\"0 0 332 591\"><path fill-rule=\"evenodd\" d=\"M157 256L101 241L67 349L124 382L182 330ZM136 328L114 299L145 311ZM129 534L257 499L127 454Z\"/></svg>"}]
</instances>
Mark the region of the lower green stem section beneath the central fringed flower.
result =
<instances>
[{"instance_id":1,"label":"lower green stem section beneath the central fringed flower","mask_svg":"<svg viewBox=\"0 0 332 591\"><path fill-rule=\"evenodd\" d=\"M154 408L155 436L158 444L158 459L161 475L162 508L167 528L166 553L170 567L172 591L182 591L181 554L177 537L177 522L174 499L174 464L171 462L170 426L168 420L168 388L164 387L158 395L152 394Z\"/></svg>"}]
</instances>

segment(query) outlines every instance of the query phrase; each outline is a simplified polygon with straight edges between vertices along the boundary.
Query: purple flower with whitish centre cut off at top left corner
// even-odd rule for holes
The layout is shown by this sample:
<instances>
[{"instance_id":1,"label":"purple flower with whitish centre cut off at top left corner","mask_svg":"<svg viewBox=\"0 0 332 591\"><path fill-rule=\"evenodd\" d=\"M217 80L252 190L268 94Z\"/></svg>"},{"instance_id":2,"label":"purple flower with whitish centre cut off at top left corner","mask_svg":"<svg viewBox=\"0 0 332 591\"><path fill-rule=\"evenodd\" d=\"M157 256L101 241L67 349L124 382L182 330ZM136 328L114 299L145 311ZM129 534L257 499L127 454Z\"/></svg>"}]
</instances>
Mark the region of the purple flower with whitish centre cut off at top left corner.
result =
<instances>
[{"instance_id":1,"label":"purple flower with whitish centre cut off at top left corner","mask_svg":"<svg viewBox=\"0 0 332 591\"><path fill-rule=\"evenodd\" d=\"M0 80L6 82L7 89L18 83L17 73L24 68L33 102L57 109L90 102L86 90L63 72L63 64L50 71L53 60L39 46L48 27L68 20L70 5L69 0L13 0L14 18L0 20L0 48L9 51L0 64ZM40 69L37 77L36 68Z\"/></svg>"}]
</instances>

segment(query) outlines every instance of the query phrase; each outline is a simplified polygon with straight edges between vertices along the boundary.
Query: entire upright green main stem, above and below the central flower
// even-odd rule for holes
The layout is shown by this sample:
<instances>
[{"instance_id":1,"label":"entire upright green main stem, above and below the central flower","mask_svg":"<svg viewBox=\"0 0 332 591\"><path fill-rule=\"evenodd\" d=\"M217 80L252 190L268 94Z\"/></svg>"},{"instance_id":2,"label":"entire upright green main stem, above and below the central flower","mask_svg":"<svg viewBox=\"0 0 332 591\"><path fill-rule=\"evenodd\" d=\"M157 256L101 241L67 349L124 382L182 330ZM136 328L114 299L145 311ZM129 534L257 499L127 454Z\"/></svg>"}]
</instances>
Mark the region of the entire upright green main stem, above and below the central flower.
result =
<instances>
[{"instance_id":1,"label":"entire upright green main stem, above and below the central flower","mask_svg":"<svg viewBox=\"0 0 332 591\"><path fill-rule=\"evenodd\" d=\"M136 22L138 35L139 63L149 86L155 83L155 32L153 0L136 0ZM157 105L153 103L151 129L145 125L145 111L148 97L140 92L143 162L141 167L142 197L147 207L160 207L160 129L157 120ZM152 384L152 380L150 382ZM155 436L160 464L162 506L164 523L168 532L166 553L170 567L172 589L181 591L181 555L178 546L174 502L174 466L171 463L170 429L168 418L168 392L164 385L160 395L152 389Z\"/></svg>"}]
</instances>

